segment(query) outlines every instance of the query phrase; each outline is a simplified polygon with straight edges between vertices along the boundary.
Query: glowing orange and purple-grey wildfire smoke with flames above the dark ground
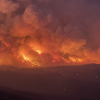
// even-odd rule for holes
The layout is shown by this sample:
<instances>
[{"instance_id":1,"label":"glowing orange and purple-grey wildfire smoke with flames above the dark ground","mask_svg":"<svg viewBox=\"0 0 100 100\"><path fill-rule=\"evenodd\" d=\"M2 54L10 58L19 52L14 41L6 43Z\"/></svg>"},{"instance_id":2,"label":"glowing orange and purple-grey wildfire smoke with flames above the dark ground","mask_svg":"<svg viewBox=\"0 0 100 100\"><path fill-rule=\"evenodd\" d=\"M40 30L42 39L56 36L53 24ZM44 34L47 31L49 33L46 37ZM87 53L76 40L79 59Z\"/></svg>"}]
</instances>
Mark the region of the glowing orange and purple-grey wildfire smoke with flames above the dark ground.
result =
<instances>
[{"instance_id":1,"label":"glowing orange and purple-grey wildfire smoke with flames above the dark ground","mask_svg":"<svg viewBox=\"0 0 100 100\"><path fill-rule=\"evenodd\" d=\"M100 63L97 0L0 0L0 65Z\"/></svg>"}]
</instances>

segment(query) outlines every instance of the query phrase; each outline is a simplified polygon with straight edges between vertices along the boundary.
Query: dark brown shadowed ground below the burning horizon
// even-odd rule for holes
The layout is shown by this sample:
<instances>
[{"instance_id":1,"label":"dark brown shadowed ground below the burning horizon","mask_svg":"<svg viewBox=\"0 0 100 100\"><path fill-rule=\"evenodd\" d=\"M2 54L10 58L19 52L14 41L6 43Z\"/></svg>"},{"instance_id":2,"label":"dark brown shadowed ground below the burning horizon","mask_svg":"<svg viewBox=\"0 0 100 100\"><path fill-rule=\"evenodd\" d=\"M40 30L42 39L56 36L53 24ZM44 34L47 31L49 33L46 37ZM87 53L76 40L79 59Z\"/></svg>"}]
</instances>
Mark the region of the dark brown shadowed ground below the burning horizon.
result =
<instances>
[{"instance_id":1,"label":"dark brown shadowed ground below the burning horizon","mask_svg":"<svg viewBox=\"0 0 100 100\"><path fill-rule=\"evenodd\" d=\"M0 100L100 100L100 65L5 69Z\"/></svg>"}]
</instances>

